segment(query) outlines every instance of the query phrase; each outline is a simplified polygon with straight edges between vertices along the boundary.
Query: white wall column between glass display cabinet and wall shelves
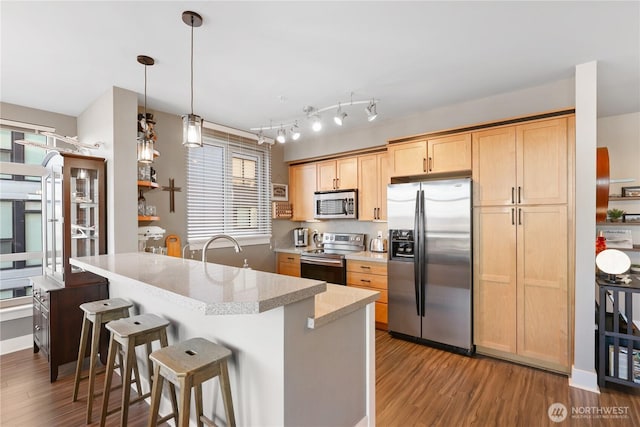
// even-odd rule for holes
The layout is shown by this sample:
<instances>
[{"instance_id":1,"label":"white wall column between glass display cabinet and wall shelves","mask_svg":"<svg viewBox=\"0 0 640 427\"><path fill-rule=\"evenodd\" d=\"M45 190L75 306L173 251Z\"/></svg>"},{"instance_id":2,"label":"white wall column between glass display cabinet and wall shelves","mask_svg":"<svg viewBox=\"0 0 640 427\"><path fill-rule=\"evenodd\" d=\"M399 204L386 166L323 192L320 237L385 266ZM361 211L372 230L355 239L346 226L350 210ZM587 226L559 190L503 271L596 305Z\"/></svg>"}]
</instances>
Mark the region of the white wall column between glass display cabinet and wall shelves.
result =
<instances>
[{"instance_id":1,"label":"white wall column between glass display cabinet and wall shelves","mask_svg":"<svg viewBox=\"0 0 640 427\"><path fill-rule=\"evenodd\" d=\"M107 252L138 250L137 95L112 87L78 117L81 140L102 143L107 159Z\"/></svg>"}]
</instances>

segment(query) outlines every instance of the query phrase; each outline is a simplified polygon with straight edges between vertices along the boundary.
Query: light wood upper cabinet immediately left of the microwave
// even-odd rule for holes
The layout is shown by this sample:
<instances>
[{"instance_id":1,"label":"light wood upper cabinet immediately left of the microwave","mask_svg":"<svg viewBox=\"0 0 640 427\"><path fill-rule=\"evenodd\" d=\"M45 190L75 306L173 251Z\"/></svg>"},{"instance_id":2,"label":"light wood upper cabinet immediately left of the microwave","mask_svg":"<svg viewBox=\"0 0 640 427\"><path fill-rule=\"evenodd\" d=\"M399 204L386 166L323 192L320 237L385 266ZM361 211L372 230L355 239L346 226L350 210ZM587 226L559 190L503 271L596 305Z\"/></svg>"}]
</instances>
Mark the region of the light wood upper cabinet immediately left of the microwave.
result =
<instances>
[{"instance_id":1,"label":"light wood upper cabinet immediately left of the microwave","mask_svg":"<svg viewBox=\"0 0 640 427\"><path fill-rule=\"evenodd\" d=\"M292 221L313 219L313 192L316 191L316 164L289 166L289 199Z\"/></svg>"}]
</instances>

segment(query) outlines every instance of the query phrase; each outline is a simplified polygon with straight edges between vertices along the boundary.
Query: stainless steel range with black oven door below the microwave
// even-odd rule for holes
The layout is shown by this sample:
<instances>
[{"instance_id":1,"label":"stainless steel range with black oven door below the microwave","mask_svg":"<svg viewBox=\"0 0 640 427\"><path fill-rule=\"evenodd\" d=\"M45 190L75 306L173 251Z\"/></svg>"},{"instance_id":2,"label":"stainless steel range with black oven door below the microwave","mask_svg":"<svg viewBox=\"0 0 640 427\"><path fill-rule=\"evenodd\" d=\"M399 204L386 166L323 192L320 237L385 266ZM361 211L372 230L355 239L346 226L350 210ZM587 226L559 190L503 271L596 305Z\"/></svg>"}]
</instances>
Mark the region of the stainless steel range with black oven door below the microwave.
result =
<instances>
[{"instance_id":1,"label":"stainless steel range with black oven door below the microwave","mask_svg":"<svg viewBox=\"0 0 640 427\"><path fill-rule=\"evenodd\" d=\"M364 250L364 234L324 233L322 248L304 251L300 255L300 275L307 279L346 285L345 255Z\"/></svg>"}]
</instances>

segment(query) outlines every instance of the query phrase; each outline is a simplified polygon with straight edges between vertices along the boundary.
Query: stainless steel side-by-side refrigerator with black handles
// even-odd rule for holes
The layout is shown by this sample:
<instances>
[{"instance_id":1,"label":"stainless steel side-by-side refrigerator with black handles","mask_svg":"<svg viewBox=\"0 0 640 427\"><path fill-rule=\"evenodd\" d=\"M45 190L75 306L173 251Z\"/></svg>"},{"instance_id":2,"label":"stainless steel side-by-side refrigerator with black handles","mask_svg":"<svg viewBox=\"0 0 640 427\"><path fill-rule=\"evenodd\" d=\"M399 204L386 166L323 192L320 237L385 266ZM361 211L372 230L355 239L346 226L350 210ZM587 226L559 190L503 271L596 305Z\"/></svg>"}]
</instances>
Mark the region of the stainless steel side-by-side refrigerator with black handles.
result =
<instances>
[{"instance_id":1,"label":"stainless steel side-by-side refrigerator with black handles","mask_svg":"<svg viewBox=\"0 0 640 427\"><path fill-rule=\"evenodd\" d=\"M389 331L472 354L471 179L389 184Z\"/></svg>"}]
</instances>

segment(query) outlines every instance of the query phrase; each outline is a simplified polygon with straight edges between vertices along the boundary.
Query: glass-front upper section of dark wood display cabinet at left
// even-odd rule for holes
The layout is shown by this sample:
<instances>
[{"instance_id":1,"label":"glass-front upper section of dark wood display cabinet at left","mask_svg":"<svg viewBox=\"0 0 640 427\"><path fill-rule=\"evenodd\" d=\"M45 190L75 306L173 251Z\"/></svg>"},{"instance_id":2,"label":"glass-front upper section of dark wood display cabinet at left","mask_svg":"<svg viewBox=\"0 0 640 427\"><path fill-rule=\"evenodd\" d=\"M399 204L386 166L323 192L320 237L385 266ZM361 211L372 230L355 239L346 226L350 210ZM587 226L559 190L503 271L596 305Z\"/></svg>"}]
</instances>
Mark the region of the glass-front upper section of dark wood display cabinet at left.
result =
<instances>
[{"instance_id":1,"label":"glass-front upper section of dark wood display cabinet at left","mask_svg":"<svg viewBox=\"0 0 640 427\"><path fill-rule=\"evenodd\" d=\"M51 152L45 165L45 274L64 286L101 282L100 276L69 264L69 258L106 253L105 160Z\"/></svg>"}]
</instances>

